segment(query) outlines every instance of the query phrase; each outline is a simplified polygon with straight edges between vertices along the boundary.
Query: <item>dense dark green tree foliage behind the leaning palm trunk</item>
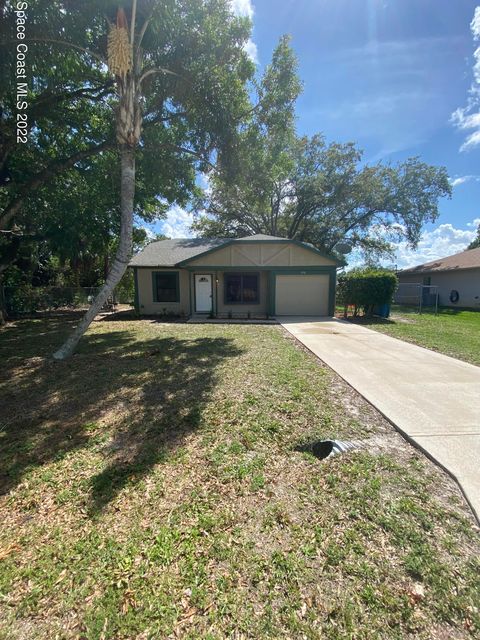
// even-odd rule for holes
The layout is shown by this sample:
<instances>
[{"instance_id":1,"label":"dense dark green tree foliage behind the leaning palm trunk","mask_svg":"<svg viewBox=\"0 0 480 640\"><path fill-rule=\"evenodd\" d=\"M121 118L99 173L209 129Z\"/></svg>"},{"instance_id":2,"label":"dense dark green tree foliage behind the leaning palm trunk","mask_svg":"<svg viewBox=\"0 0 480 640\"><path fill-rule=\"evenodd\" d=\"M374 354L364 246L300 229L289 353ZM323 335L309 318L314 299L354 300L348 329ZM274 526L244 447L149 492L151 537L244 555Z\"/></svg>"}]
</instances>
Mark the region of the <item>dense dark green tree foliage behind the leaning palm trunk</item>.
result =
<instances>
[{"instance_id":1,"label":"dense dark green tree foliage behind the leaning palm trunk","mask_svg":"<svg viewBox=\"0 0 480 640\"><path fill-rule=\"evenodd\" d=\"M116 90L104 63L118 1L33 0L28 7L29 132L15 144L15 3L0 10L0 273L21 248L48 250L77 274L104 278L120 227ZM121 4L121 3L120 3ZM131 2L124 7L130 20ZM196 174L228 157L250 108L251 24L227 0L138 0L143 130L135 215L152 222L198 196ZM138 34L137 34L138 36ZM168 70L168 73L165 73ZM78 158L78 154L81 154ZM82 155L83 154L83 155ZM75 162L73 160L76 159Z\"/></svg>"}]
</instances>

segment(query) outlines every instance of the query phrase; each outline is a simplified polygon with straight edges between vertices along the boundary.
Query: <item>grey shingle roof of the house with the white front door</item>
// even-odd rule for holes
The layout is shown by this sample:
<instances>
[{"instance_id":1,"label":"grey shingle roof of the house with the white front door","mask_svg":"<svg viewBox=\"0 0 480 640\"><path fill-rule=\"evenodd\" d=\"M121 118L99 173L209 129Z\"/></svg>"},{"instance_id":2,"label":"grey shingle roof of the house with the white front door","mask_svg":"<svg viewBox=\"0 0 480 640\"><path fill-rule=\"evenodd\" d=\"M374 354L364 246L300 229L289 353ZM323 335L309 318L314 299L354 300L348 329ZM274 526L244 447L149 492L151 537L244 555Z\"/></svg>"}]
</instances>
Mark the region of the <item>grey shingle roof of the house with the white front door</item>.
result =
<instances>
[{"instance_id":1,"label":"grey shingle roof of the house with the white front door","mask_svg":"<svg viewBox=\"0 0 480 640\"><path fill-rule=\"evenodd\" d=\"M176 238L174 240L157 240L156 242L148 244L145 249L134 256L130 261L129 266L174 267L180 262L195 258L195 256L199 256L211 249L220 248L222 245L227 243L242 243L258 240L263 240L265 242L281 240L282 242L285 242L286 239L258 233L244 238ZM303 244L307 245L307 243Z\"/></svg>"}]
</instances>

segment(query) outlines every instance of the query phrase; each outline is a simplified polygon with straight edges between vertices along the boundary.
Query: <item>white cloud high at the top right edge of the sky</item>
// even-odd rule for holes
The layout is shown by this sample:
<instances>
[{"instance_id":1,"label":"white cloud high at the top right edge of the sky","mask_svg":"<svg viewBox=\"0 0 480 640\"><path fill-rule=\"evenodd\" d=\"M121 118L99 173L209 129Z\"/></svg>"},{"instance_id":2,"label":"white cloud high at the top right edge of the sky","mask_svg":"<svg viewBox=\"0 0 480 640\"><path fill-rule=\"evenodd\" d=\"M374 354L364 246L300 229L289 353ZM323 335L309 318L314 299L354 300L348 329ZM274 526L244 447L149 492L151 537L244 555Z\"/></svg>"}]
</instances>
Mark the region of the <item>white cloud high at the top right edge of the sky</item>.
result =
<instances>
[{"instance_id":1,"label":"white cloud high at the top right edge of the sky","mask_svg":"<svg viewBox=\"0 0 480 640\"><path fill-rule=\"evenodd\" d=\"M475 7L470 23L473 39L480 40L480 6ZM473 131L467 135L460 151L468 151L480 144L480 47L473 53L473 83L466 107L459 107L451 116L453 124L462 131Z\"/></svg>"}]
</instances>

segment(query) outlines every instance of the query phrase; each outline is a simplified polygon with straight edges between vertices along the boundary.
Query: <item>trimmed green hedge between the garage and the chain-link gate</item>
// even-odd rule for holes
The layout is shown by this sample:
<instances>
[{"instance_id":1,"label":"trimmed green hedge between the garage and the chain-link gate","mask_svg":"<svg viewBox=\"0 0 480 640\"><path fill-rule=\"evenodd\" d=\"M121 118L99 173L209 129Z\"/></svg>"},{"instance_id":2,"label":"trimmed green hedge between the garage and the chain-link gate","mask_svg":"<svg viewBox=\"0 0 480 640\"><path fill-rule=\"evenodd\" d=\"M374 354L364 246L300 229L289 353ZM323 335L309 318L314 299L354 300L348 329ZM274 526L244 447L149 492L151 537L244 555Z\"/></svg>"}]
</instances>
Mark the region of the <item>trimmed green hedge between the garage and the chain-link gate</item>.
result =
<instances>
[{"instance_id":1,"label":"trimmed green hedge between the garage and the chain-link gate","mask_svg":"<svg viewBox=\"0 0 480 640\"><path fill-rule=\"evenodd\" d=\"M345 307L353 305L354 315L363 309L366 315L372 315L376 306L390 304L398 286L393 271L384 269L354 269L338 278L337 299Z\"/></svg>"}]
</instances>

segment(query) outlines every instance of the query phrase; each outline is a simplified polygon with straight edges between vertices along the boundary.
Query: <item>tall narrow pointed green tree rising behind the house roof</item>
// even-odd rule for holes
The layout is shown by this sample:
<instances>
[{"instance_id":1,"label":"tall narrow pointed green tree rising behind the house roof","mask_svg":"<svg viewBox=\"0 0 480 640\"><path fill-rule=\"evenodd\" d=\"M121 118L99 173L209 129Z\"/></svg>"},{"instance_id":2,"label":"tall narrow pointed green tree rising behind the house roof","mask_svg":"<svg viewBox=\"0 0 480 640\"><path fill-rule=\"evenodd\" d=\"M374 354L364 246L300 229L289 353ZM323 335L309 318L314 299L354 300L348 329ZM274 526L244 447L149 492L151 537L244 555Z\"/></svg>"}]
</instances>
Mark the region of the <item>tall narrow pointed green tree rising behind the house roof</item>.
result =
<instances>
[{"instance_id":1,"label":"tall narrow pointed green tree rising behind the house roof","mask_svg":"<svg viewBox=\"0 0 480 640\"><path fill-rule=\"evenodd\" d=\"M272 62L256 86L256 105L245 113L234 147L220 156L207 197L196 209L211 214L194 228L206 237L272 233L280 214L271 208L272 185L280 184L293 161L295 101L301 91L298 62L288 37L280 39Z\"/></svg>"}]
</instances>

